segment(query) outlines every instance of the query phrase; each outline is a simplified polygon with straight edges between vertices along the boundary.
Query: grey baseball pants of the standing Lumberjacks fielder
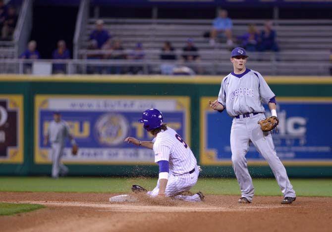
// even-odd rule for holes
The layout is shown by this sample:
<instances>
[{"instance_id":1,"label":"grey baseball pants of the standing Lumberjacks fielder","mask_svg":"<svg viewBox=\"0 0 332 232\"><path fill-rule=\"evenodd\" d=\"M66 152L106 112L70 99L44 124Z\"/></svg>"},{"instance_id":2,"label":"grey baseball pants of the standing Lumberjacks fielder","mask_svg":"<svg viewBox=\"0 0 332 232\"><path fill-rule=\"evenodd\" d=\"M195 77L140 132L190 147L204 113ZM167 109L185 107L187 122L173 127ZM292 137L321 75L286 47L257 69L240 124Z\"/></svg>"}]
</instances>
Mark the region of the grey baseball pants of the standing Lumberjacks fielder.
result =
<instances>
[{"instance_id":1,"label":"grey baseball pants of the standing Lumberjacks fielder","mask_svg":"<svg viewBox=\"0 0 332 232\"><path fill-rule=\"evenodd\" d=\"M295 197L295 191L290 184L286 169L277 157L271 132L262 132L259 120L265 119L263 113L252 115L249 118L234 118L230 132L230 148L235 176L239 183L242 197L252 201L254 186L248 172L246 153L249 150L249 141L269 163L284 197Z\"/></svg>"}]
</instances>

